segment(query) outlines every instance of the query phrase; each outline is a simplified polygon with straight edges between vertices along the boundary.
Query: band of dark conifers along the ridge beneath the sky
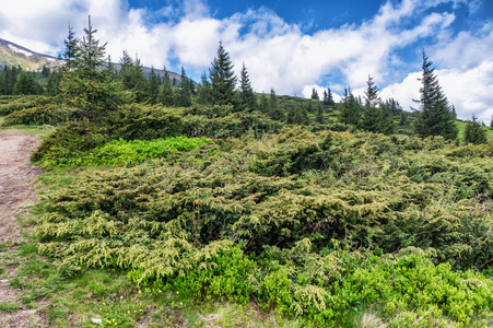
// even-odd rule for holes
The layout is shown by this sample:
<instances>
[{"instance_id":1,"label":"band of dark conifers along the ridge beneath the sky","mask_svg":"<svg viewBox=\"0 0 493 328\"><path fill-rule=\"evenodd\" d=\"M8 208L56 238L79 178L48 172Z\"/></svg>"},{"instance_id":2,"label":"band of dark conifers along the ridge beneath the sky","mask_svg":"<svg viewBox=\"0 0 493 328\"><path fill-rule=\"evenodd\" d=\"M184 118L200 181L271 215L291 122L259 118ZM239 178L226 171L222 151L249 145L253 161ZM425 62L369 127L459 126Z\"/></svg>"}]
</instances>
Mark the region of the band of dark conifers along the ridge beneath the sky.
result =
<instances>
[{"instance_id":1,"label":"band of dark conifers along the ridge beneath the sky","mask_svg":"<svg viewBox=\"0 0 493 328\"><path fill-rule=\"evenodd\" d=\"M424 50L420 99L415 101L418 108L409 113L394 98L382 99L371 75L366 81L367 89L363 97L353 95L352 90L348 87L338 104L333 101L330 89L324 91L322 99L315 89L310 99L278 96L274 89L270 90L270 94L256 94L246 65L243 63L239 77L236 77L231 57L222 43L209 71L202 73L200 83L189 79L183 67L178 79L166 68L163 77L157 74L154 68L146 74L140 59L137 57L132 59L127 50L124 50L119 65L111 63L110 58L104 55L105 47L99 46L98 40L94 38L94 32L85 30L86 40L82 43L69 26L69 34L64 40L66 49L62 54L66 66L58 70L50 71L45 67L42 72L35 73L25 72L19 67L5 67L5 70L0 72L0 94L45 94L56 96L59 102L67 105L81 106L89 98L71 102L70 94L73 94L78 86L70 85L69 81L74 80L78 71L89 70L92 73L85 78L101 79L99 86L103 93L99 94L99 99L106 96L114 99L113 104L107 104L109 106L107 109L111 110L118 105L129 103L165 107L228 105L233 106L233 112L258 110L272 120L287 125L318 126L322 129L327 124L344 124L387 136L392 133L416 134L422 138L442 136L448 140L456 140L458 137L456 109L448 104L438 84L433 63ZM105 94L104 91L110 91L110 94ZM96 95L98 92L94 91L93 94ZM462 141L485 143L488 138L483 126L484 124L472 116L466 125Z\"/></svg>"}]
</instances>

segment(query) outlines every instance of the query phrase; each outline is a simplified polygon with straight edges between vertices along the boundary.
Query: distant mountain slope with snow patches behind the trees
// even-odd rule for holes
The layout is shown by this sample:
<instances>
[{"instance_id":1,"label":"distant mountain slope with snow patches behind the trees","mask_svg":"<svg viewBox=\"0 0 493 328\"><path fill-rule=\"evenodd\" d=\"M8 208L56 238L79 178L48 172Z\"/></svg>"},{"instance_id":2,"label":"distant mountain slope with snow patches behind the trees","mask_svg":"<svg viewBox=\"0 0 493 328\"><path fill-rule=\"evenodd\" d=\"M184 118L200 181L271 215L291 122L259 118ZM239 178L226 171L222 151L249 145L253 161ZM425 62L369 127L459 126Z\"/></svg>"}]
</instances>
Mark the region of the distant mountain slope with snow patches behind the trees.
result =
<instances>
[{"instance_id":1,"label":"distant mountain slope with snow patches behind the trees","mask_svg":"<svg viewBox=\"0 0 493 328\"><path fill-rule=\"evenodd\" d=\"M26 71L42 71L44 66L48 67L50 70L57 69L63 66L63 60L32 51L23 46L0 38L0 70L3 70L5 66L21 66L21 68ZM119 65L115 63L115 67L118 70ZM151 68L143 67L142 69L149 78ZM163 70L154 69L154 71L160 77L164 75ZM172 81L173 79L180 80L180 75L177 73L168 72L168 74Z\"/></svg>"}]
</instances>

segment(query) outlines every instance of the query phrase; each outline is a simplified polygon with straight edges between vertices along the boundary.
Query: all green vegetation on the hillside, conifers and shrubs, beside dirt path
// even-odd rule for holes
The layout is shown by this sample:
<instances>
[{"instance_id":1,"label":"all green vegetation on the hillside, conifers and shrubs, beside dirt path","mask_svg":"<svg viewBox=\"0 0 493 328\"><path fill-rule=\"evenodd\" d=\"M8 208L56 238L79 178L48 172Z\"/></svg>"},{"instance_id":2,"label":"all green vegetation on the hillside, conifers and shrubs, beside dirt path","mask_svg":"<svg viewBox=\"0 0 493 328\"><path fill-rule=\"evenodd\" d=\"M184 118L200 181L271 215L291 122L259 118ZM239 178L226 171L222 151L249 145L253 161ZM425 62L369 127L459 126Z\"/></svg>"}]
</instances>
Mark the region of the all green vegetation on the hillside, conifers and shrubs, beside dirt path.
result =
<instances>
[{"instance_id":1,"label":"all green vegetation on the hillside, conifers and shrubs, beside dirt path","mask_svg":"<svg viewBox=\"0 0 493 328\"><path fill-rule=\"evenodd\" d=\"M19 284L52 327L493 326L493 121L424 49L408 112L372 75L256 93L223 43L200 81L111 63L91 20L64 45L0 71L2 128L51 131L22 248L47 273Z\"/></svg>"}]
</instances>

